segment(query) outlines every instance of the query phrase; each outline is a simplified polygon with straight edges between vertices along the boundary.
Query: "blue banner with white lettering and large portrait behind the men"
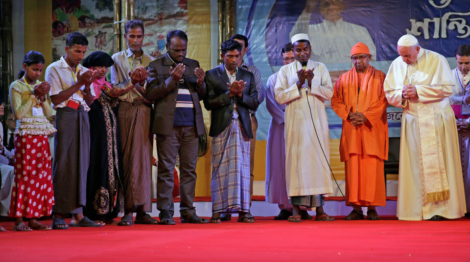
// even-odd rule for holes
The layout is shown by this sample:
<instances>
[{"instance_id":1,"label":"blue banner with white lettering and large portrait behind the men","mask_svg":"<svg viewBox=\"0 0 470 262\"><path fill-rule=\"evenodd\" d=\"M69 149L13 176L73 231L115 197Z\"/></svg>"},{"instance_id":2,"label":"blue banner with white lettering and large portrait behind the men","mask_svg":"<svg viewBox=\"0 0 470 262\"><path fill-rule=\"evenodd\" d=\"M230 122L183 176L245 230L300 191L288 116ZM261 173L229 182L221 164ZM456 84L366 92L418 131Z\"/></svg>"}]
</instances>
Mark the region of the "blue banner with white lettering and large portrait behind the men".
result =
<instances>
[{"instance_id":1,"label":"blue banner with white lettering and large portrait behind the men","mask_svg":"<svg viewBox=\"0 0 470 262\"><path fill-rule=\"evenodd\" d=\"M237 33L250 42L245 59L257 66L263 82L282 66L280 50L297 33L312 41L311 59L323 62L334 82L352 67L352 45L368 44L371 63L388 71L398 54L401 35L415 35L421 46L449 58L454 68L454 50L470 40L468 0L238 0ZM339 14L339 19L338 16ZM328 109L330 138L339 138L341 119ZM401 109L389 108L390 136L400 135ZM271 116L264 103L258 110L258 139L265 140Z\"/></svg>"}]
</instances>

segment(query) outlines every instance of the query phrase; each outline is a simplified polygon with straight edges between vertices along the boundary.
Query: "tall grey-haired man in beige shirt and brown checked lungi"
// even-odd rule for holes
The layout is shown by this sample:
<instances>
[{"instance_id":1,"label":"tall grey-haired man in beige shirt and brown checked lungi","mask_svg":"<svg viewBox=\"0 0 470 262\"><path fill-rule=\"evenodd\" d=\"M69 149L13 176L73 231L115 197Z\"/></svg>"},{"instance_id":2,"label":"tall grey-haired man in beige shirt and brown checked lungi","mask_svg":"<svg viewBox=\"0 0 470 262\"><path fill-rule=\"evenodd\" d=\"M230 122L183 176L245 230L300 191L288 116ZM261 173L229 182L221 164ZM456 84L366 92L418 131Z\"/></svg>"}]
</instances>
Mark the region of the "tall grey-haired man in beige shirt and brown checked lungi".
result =
<instances>
[{"instance_id":1,"label":"tall grey-haired man in beige shirt and brown checked lungi","mask_svg":"<svg viewBox=\"0 0 470 262\"><path fill-rule=\"evenodd\" d=\"M132 225L134 212L137 213L134 223L158 224L158 220L147 214L152 211L152 106L145 98L148 71L144 67L154 59L142 50L142 21L126 22L124 32L129 48L112 56L114 65L111 67L111 83L120 89L131 88L119 97L118 122L123 151L125 214L118 225Z\"/></svg>"}]
</instances>

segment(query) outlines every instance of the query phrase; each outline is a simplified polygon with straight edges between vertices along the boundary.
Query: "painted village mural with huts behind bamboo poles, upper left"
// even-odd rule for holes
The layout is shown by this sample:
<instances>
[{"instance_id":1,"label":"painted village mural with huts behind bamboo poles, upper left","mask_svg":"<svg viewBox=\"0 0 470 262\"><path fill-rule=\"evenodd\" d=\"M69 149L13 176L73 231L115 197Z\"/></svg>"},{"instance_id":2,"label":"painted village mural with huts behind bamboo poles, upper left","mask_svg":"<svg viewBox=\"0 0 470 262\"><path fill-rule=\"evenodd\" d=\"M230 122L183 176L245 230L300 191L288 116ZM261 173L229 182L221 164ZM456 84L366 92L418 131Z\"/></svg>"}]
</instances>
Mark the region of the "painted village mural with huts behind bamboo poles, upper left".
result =
<instances>
[{"instance_id":1,"label":"painted village mural with huts behind bamboo poles, upper left","mask_svg":"<svg viewBox=\"0 0 470 262\"><path fill-rule=\"evenodd\" d=\"M87 53L100 50L112 55L113 4L113 0L53 0L53 60L64 55L67 35L74 31L88 38ZM186 0L136 0L134 8L136 19L142 20L145 26L143 50L155 58L165 53L166 33L169 30L178 28L187 31Z\"/></svg>"}]
</instances>

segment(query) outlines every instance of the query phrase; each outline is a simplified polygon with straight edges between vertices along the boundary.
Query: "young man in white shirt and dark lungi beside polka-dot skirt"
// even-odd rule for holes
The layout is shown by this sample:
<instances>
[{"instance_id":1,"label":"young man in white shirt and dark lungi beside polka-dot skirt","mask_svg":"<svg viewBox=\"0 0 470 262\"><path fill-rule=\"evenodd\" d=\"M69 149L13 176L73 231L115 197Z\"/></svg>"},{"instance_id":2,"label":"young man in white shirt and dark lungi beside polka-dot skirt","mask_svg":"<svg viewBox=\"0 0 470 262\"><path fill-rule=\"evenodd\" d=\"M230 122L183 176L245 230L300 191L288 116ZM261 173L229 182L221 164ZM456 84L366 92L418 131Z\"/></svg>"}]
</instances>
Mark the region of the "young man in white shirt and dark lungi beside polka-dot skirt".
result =
<instances>
[{"instance_id":1,"label":"young man in white shirt and dark lungi beside polka-dot skirt","mask_svg":"<svg viewBox=\"0 0 470 262\"><path fill-rule=\"evenodd\" d=\"M87 171L90 157L89 106L94 94L96 71L80 65L87 51L88 40L79 32L67 36L65 56L47 66L45 79L49 95L57 110L54 137L52 182L55 200L52 229L100 227L101 224L83 216L86 204ZM49 202L50 203L50 202ZM73 214L69 225L66 214Z\"/></svg>"}]
</instances>

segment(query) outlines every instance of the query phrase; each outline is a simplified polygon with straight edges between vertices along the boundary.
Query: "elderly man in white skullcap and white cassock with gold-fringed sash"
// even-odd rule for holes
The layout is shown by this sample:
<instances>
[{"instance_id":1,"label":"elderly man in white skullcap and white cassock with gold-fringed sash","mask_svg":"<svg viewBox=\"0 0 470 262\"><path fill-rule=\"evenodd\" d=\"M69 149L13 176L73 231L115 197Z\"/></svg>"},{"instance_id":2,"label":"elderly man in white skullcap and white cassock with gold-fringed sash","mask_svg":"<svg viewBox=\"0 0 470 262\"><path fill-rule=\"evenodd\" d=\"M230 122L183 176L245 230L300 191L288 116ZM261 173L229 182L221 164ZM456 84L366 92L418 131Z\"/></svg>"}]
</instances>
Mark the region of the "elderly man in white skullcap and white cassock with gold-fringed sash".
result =
<instances>
[{"instance_id":1,"label":"elderly man in white skullcap and white cassock with gold-fringed sash","mask_svg":"<svg viewBox=\"0 0 470 262\"><path fill-rule=\"evenodd\" d=\"M390 105L403 108L397 216L442 220L465 214L455 118L447 97L451 71L444 56L404 35L384 82Z\"/></svg>"}]
</instances>

